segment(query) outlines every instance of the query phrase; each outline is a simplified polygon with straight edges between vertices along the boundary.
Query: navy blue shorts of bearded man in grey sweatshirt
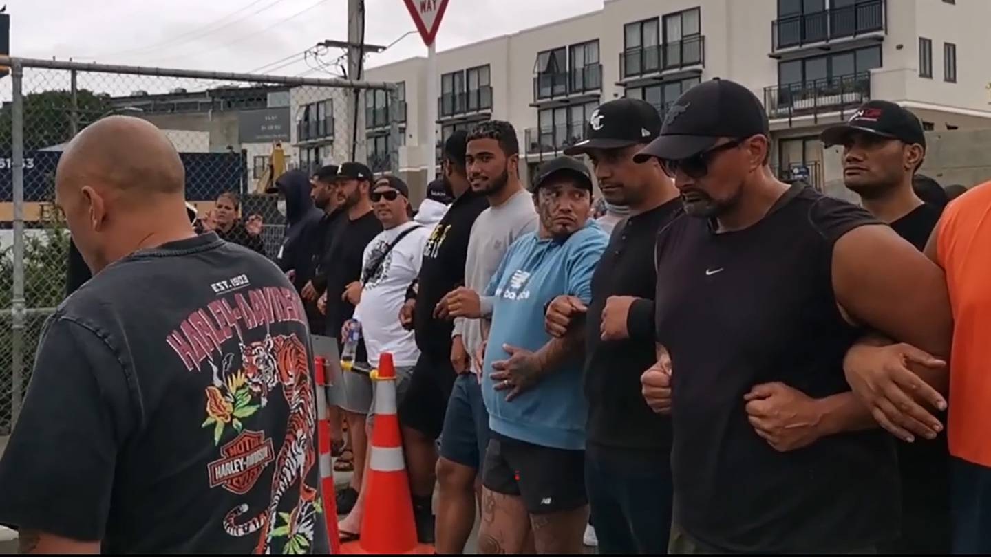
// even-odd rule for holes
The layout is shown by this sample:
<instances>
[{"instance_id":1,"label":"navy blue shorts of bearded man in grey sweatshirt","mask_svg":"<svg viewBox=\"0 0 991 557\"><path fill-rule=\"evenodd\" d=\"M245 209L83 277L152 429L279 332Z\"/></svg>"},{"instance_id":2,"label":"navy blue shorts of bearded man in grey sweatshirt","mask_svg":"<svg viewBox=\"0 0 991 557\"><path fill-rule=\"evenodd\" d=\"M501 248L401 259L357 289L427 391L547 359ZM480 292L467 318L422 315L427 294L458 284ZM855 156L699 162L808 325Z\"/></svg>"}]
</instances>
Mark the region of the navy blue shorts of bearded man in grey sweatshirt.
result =
<instances>
[{"instance_id":1,"label":"navy blue shorts of bearded man in grey sweatshirt","mask_svg":"<svg viewBox=\"0 0 991 557\"><path fill-rule=\"evenodd\" d=\"M482 399L482 386L475 374L461 374L454 381L440 435L440 456L482 470L489 446L489 411Z\"/></svg>"}]
</instances>

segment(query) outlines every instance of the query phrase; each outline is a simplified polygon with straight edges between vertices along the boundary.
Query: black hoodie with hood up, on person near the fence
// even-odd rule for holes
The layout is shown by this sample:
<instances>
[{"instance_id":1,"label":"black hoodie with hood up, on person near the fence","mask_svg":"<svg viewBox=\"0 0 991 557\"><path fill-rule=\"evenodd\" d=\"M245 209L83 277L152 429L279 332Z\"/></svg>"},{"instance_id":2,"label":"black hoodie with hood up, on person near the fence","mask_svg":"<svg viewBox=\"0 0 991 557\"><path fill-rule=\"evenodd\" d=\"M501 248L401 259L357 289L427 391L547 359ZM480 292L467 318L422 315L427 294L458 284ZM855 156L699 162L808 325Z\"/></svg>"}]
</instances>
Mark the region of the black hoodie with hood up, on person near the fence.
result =
<instances>
[{"instance_id":1,"label":"black hoodie with hood up, on person near the fence","mask_svg":"<svg viewBox=\"0 0 991 557\"><path fill-rule=\"evenodd\" d=\"M278 176L275 187L285 198L285 235L278 253L278 266L282 271L293 271L292 285L301 291L313 278L313 255L319 244L318 224L323 213L313 206L310 197L309 176L302 170L289 170ZM316 305L304 302L310 327L322 322ZM322 327L321 327L322 328ZM318 331L320 329L317 329Z\"/></svg>"}]
</instances>

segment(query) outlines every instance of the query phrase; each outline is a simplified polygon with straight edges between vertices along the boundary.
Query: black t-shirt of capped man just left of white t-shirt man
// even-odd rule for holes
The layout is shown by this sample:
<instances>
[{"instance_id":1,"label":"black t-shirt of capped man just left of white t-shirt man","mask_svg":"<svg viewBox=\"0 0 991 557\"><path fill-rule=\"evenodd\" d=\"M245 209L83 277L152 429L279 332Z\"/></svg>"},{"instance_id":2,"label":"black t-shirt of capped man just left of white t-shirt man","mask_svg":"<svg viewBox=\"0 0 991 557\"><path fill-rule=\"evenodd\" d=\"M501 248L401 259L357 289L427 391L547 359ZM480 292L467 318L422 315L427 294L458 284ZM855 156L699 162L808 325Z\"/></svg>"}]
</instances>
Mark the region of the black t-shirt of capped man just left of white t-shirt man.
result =
<instances>
[{"instance_id":1,"label":"black t-shirt of capped man just left of white t-shirt man","mask_svg":"<svg viewBox=\"0 0 991 557\"><path fill-rule=\"evenodd\" d=\"M351 220L347 216L338 219L331 232L327 273L327 326L326 334L341 336L341 327L355 313L355 306L341 299L344 288L362 278L362 259L365 247L382 232L382 223L375 211ZM398 319L398 315L396 315Z\"/></svg>"}]
</instances>

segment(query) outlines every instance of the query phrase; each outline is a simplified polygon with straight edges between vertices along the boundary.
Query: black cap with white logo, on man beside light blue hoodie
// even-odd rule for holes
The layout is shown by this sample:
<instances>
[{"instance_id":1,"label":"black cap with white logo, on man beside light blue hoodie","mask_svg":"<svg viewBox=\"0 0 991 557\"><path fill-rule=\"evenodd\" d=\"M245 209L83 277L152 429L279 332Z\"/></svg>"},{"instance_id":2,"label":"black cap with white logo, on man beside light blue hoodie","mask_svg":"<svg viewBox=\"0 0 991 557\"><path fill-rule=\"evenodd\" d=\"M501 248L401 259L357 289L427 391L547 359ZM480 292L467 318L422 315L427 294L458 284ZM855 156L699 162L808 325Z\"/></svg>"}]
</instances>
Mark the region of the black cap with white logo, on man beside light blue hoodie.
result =
<instances>
[{"instance_id":1,"label":"black cap with white logo, on man beside light blue hoodie","mask_svg":"<svg viewBox=\"0 0 991 557\"><path fill-rule=\"evenodd\" d=\"M565 155L584 155L590 149L622 149L650 143L661 131L661 117L649 102L633 98L610 100L592 112L585 127L585 140L564 150Z\"/></svg>"}]
</instances>

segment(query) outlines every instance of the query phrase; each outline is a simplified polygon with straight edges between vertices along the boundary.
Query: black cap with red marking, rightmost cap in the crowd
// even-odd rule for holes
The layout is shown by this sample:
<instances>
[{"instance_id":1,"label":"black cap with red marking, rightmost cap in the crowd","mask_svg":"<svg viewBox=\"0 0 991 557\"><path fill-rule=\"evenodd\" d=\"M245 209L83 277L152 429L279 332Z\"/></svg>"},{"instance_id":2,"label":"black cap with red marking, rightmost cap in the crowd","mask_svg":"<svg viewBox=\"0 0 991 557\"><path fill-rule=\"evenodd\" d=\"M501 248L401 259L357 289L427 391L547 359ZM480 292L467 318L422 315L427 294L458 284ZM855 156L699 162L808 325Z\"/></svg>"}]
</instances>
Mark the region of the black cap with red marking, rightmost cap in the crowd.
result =
<instances>
[{"instance_id":1,"label":"black cap with red marking, rightmost cap in the crowd","mask_svg":"<svg viewBox=\"0 0 991 557\"><path fill-rule=\"evenodd\" d=\"M886 100L865 102L845 124L826 128L820 139L826 147L832 147L844 143L855 132L897 139L909 145L919 144L926 149L926 132L919 117Z\"/></svg>"}]
</instances>

